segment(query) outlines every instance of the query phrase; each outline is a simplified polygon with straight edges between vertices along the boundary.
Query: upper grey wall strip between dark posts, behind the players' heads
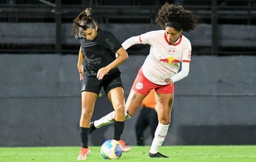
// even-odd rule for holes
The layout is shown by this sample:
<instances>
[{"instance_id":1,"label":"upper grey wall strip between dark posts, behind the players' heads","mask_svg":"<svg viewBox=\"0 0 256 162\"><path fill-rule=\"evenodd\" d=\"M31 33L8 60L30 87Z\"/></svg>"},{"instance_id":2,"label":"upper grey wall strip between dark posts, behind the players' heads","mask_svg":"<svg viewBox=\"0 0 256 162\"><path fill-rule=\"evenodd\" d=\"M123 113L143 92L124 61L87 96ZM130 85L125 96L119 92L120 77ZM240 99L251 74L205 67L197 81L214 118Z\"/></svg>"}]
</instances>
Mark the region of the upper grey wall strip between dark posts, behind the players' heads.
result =
<instances>
[{"instance_id":1,"label":"upper grey wall strip between dark posts, behind the players' heads","mask_svg":"<svg viewBox=\"0 0 256 162\"><path fill-rule=\"evenodd\" d=\"M19 26L19 33L8 30ZM123 42L131 36L136 36L152 30L160 29L155 24L99 24L102 29L111 31L119 41ZM256 31L255 26L243 25L220 25L218 26L218 45L220 47L255 47ZM62 44L77 45L74 35L71 34L72 24L62 24ZM189 33L183 32L189 38L193 46L211 47L210 24L198 24L195 31ZM243 32L241 32L243 31ZM54 23L1 23L0 43L2 44L52 44L55 40ZM15 37L13 37L15 35Z\"/></svg>"}]
</instances>

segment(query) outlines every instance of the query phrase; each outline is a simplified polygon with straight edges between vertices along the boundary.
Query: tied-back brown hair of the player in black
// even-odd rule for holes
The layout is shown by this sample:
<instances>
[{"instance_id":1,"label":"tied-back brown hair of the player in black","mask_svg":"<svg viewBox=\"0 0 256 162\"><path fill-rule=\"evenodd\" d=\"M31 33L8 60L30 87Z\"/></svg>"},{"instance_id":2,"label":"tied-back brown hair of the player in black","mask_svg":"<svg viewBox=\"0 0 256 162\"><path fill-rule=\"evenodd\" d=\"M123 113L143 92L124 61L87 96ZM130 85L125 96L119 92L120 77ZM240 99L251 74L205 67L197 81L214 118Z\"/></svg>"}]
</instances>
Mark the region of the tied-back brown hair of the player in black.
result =
<instances>
[{"instance_id":1,"label":"tied-back brown hair of the player in black","mask_svg":"<svg viewBox=\"0 0 256 162\"><path fill-rule=\"evenodd\" d=\"M96 21L91 17L91 10L92 8L86 8L73 20L72 34L75 34L75 38L83 38L84 30L90 27L94 29L97 26Z\"/></svg>"}]
</instances>

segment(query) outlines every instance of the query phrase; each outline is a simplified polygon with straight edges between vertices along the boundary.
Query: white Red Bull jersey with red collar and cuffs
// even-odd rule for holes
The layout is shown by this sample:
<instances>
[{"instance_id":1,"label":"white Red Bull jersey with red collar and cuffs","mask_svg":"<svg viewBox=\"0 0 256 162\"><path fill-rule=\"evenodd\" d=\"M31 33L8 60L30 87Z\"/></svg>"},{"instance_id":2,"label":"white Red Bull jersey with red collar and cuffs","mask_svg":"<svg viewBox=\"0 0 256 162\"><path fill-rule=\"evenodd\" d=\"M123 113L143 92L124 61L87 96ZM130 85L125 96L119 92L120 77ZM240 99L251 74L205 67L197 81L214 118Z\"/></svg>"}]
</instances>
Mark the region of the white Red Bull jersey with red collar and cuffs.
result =
<instances>
[{"instance_id":1,"label":"white Red Bull jersey with red collar and cuffs","mask_svg":"<svg viewBox=\"0 0 256 162\"><path fill-rule=\"evenodd\" d=\"M182 34L172 45L164 30L150 31L140 35L140 43L150 45L150 53L145 59L142 71L154 84L166 85L166 82L163 82L164 78L176 75L180 62L191 61L191 43Z\"/></svg>"}]
</instances>

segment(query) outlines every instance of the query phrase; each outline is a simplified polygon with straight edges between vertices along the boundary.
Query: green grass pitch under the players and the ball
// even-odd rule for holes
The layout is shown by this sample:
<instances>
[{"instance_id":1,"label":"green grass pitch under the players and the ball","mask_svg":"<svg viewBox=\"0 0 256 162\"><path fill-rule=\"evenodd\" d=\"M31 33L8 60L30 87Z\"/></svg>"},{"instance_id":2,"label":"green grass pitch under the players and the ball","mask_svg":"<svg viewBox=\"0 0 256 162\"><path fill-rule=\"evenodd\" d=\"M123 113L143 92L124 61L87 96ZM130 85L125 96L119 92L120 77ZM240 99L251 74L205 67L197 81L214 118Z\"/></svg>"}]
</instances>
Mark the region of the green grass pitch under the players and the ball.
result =
<instances>
[{"instance_id":1,"label":"green grass pitch under the players and the ball","mask_svg":"<svg viewBox=\"0 0 256 162\"><path fill-rule=\"evenodd\" d=\"M72 162L77 161L80 147L0 147L0 161ZM111 161L100 155L100 147L90 147L85 161ZM256 145L162 146L159 152L170 158L148 158L149 146L131 146L115 161L256 161Z\"/></svg>"}]
</instances>

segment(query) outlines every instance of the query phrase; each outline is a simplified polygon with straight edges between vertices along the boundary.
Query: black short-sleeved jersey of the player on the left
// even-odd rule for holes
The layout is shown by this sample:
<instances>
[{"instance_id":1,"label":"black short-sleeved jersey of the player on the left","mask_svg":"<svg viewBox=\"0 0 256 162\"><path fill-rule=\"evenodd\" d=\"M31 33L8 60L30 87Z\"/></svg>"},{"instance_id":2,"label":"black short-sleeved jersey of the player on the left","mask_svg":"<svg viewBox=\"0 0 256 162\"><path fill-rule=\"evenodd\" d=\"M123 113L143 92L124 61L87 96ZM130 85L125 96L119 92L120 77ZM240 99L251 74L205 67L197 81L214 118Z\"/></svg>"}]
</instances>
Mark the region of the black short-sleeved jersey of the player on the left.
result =
<instances>
[{"instance_id":1,"label":"black short-sleeved jersey of the player on the left","mask_svg":"<svg viewBox=\"0 0 256 162\"><path fill-rule=\"evenodd\" d=\"M122 47L115 36L109 31L98 28L98 35L93 41L79 38L84 54L84 76L97 76L100 68L108 66L116 59L115 52ZM113 68L108 74L120 75L118 67Z\"/></svg>"}]
</instances>

